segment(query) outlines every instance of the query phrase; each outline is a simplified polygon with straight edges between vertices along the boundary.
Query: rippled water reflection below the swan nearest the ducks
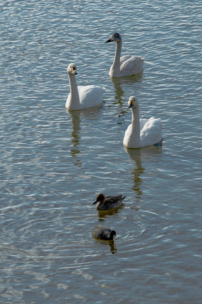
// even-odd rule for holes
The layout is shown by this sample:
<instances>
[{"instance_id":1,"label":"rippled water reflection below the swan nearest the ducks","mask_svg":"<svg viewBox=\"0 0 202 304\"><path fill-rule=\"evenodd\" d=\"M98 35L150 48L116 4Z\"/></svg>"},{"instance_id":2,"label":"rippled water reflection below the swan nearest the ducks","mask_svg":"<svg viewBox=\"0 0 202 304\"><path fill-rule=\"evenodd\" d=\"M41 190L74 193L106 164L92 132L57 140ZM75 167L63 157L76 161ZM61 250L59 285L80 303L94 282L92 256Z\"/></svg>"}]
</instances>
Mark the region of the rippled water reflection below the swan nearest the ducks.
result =
<instances>
[{"instance_id":1,"label":"rippled water reflection below the swan nearest the ducks","mask_svg":"<svg viewBox=\"0 0 202 304\"><path fill-rule=\"evenodd\" d=\"M136 168L128 172L133 174L134 186L132 187L132 189L136 192L136 198L140 198L143 194L140 188L143 183L143 179L140 176L146 170L142 167L142 160L144 160L145 158L147 158L147 160L152 160L154 156L161 154L163 150L161 146L148 146L139 149L131 149L127 147L124 148L125 151L128 153L129 158L135 161Z\"/></svg>"}]
</instances>

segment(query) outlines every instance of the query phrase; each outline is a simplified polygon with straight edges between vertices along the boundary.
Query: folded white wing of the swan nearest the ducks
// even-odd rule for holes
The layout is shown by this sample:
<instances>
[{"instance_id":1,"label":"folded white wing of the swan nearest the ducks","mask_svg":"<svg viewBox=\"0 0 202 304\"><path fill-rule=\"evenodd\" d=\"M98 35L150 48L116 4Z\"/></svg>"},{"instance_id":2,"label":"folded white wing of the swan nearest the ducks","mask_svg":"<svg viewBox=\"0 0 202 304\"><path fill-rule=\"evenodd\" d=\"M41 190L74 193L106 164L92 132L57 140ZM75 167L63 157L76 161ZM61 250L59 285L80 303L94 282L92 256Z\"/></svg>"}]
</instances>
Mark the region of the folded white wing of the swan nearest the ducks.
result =
<instances>
[{"instance_id":1,"label":"folded white wing of the swan nearest the ducks","mask_svg":"<svg viewBox=\"0 0 202 304\"><path fill-rule=\"evenodd\" d=\"M140 131L141 144L153 145L162 140L162 122L160 118L151 117Z\"/></svg>"}]
</instances>

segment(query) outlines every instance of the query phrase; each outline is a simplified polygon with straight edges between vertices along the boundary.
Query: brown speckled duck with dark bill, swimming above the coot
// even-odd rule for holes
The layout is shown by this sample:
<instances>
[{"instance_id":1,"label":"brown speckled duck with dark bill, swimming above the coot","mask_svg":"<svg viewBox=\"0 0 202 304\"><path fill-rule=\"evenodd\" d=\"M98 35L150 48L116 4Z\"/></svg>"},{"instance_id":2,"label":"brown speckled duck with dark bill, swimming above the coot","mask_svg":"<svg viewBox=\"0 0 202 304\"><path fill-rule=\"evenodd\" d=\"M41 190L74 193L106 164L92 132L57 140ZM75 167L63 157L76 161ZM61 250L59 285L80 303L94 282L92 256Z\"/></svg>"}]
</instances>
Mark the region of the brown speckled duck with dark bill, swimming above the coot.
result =
<instances>
[{"instance_id":1,"label":"brown speckled duck with dark bill, swimming above the coot","mask_svg":"<svg viewBox=\"0 0 202 304\"><path fill-rule=\"evenodd\" d=\"M122 194L119 194L117 196L105 196L104 194L100 193L97 195L96 201L92 205L98 203L96 205L97 210L109 210L118 208L121 206L123 199L125 199L125 196L122 197Z\"/></svg>"}]
</instances>

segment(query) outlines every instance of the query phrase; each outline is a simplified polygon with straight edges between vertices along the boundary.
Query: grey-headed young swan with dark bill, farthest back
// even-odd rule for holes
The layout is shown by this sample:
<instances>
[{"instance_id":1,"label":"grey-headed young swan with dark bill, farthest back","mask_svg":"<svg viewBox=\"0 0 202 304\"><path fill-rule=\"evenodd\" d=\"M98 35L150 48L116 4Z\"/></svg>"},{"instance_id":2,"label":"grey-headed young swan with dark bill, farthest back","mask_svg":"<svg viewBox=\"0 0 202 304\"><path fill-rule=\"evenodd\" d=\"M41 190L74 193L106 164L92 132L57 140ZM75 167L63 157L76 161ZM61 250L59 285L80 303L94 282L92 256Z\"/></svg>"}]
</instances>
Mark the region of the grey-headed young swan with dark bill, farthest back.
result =
<instances>
[{"instance_id":1,"label":"grey-headed young swan with dark bill, farthest back","mask_svg":"<svg viewBox=\"0 0 202 304\"><path fill-rule=\"evenodd\" d=\"M137 74L143 71L143 62L145 58L140 56L125 55L121 57L122 38L118 33L111 35L107 42L116 42L116 52L114 62L110 68L109 76L123 77Z\"/></svg>"}]
</instances>

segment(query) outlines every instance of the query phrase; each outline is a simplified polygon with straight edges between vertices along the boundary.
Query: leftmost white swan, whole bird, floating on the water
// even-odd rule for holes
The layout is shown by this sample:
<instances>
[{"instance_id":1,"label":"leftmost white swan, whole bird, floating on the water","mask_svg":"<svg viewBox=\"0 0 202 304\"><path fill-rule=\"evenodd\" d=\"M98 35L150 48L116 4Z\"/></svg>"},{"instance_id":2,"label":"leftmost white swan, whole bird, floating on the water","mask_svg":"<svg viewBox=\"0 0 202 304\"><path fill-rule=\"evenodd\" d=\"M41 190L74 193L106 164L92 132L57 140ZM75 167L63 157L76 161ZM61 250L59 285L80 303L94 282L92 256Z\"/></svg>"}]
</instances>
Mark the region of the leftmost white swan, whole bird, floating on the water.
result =
<instances>
[{"instance_id":1,"label":"leftmost white swan, whole bird, floating on the water","mask_svg":"<svg viewBox=\"0 0 202 304\"><path fill-rule=\"evenodd\" d=\"M100 105L103 102L103 93L106 88L97 85L78 86L76 64L70 63L67 67L70 81L70 94L65 107L69 110L81 110Z\"/></svg>"}]
</instances>

